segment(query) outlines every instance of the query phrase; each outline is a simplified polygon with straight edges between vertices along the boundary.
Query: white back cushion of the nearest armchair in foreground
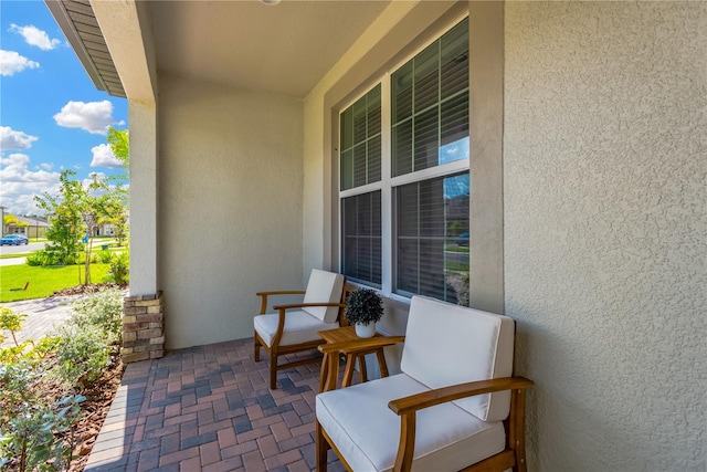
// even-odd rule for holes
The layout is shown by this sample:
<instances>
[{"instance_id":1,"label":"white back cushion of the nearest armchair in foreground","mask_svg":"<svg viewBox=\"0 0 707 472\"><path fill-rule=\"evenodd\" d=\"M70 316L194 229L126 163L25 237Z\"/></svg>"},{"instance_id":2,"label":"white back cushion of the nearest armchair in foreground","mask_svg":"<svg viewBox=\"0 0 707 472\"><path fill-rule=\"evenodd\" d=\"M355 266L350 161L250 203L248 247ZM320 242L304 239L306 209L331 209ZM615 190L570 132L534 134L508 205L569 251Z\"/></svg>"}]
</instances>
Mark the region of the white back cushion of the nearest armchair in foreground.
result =
<instances>
[{"instance_id":1,"label":"white back cushion of the nearest armchair in foreground","mask_svg":"<svg viewBox=\"0 0 707 472\"><path fill-rule=\"evenodd\" d=\"M508 316L413 296L401 370L430 388L513 375L514 322ZM484 421L500 421L510 391L455 403Z\"/></svg>"}]
</instances>

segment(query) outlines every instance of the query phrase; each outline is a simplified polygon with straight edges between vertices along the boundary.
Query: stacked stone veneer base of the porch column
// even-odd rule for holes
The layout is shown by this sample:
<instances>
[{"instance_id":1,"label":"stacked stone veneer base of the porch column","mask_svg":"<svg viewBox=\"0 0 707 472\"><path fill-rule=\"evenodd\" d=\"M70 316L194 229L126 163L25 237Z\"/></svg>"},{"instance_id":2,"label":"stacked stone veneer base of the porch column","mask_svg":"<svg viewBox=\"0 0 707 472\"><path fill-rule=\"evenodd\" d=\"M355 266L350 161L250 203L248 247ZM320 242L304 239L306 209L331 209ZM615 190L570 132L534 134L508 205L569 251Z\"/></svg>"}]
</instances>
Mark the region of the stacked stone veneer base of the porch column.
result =
<instances>
[{"instance_id":1,"label":"stacked stone veneer base of the porch column","mask_svg":"<svg viewBox=\"0 0 707 472\"><path fill-rule=\"evenodd\" d=\"M157 359L165 355L165 302L156 295L126 296L123 302L123 363Z\"/></svg>"}]
</instances>

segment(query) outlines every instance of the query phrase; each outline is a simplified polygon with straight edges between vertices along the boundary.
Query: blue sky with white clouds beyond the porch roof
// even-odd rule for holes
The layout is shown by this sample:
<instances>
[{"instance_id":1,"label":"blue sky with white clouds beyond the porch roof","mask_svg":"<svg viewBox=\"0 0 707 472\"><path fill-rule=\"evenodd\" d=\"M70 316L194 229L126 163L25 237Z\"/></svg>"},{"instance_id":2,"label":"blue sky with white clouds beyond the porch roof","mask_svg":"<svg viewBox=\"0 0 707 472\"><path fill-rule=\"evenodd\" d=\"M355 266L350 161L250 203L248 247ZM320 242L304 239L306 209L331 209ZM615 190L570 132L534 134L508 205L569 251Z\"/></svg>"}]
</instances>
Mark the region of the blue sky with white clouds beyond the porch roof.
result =
<instances>
[{"instance_id":1,"label":"blue sky with white clouds beyond the porch roof","mask_svg":"<svg viewBox=\"0 0 707 472\"><path fill-rule=\"evenodd\" d=\"M107 128L127 129L125 98L98 91L42 0L0 0L0 206L43 214L64 169L123 175Z\"/></svg>"}]
</instances>

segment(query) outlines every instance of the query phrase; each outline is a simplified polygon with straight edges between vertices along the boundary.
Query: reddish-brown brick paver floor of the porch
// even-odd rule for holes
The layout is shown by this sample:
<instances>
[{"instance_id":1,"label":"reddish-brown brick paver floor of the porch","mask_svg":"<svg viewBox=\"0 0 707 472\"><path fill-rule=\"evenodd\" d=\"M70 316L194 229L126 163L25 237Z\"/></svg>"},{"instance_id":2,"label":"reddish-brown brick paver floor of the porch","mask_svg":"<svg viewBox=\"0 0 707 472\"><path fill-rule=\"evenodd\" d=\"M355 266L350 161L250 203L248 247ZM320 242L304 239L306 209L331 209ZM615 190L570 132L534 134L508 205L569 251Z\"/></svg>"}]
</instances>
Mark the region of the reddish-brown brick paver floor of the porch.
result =
<instances>
[{"instance_id":1,"label":"reddish-brown brick paver floor of the porch","mask_svg":"<svg viewBox=\"0 0 707 472\"><path fill-rule=\"evenodd\" d=\"M319 364L281 370L271 390L268 363L241 339L129 364L85 470L314 470Z\"/></svg>"}]
</instances>

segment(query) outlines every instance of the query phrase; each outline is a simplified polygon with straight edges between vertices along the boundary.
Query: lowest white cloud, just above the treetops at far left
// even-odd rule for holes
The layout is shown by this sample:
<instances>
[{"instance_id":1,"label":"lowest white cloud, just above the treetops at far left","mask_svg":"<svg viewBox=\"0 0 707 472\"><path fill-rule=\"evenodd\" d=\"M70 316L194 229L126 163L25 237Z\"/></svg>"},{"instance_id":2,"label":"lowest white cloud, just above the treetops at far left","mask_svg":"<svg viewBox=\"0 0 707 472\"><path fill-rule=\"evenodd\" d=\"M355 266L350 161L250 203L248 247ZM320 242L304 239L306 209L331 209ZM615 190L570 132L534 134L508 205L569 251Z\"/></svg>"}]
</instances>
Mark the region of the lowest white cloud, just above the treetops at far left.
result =
<instances>
[{"instance_id":1,"label":"lowest white cloud, just above the treetops at far left","mask_svg":"<svg viewBox=\"0 0 707 472\"><path fill-rule=\"evenodd\" d=\"M42 165L40 165L42 166ZM59 192L59 172L30 170L30 157L14 153L0 157L0 204L13 214L41 213L35 195Z\"/></svg>"}]
</instances>

